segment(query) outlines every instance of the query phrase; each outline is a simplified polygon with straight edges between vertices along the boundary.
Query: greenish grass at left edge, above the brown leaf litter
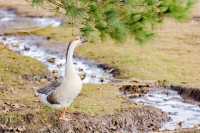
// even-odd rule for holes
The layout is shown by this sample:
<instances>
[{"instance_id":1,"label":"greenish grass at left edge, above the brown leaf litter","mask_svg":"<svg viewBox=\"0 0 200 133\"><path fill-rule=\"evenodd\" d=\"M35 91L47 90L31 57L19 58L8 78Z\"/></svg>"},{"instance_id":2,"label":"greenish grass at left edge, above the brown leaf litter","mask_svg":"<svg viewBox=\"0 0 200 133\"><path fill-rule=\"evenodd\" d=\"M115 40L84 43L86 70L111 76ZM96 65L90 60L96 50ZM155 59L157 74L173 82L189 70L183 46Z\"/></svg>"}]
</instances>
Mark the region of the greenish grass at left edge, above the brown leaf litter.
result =
<instances>
[{"instance_id":1,"label":"greenish grass at left edge, above the brown leaf litter","mask_svg":"<svg viewBox=\"0 0 200 133\"><path fill-rule=\"evenodd\" d=\"M43 76L48 72L38 61L17 55L1 44L0 52L0 82L6 86L23 85L24 76Z\"/></svg>"}]
</instances>

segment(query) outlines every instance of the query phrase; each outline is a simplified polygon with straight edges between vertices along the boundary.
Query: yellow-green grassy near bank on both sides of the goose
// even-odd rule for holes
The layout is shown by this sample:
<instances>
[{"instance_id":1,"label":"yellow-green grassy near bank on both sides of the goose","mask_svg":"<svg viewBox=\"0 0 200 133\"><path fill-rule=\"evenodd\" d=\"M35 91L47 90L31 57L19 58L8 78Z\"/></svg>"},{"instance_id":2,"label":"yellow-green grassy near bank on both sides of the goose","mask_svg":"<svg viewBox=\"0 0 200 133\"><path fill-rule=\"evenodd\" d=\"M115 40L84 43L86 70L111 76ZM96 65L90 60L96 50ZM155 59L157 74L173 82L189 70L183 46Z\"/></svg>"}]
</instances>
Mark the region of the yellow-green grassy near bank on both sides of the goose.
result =
<instances>
[{"instance_id":1,"label":"yellow-green grassy near bank on both sides of the goose","mask_svg":"<svg viewBox=\"0 0 200 133\"><path fill-rule=\"evenodd\" d=\"M0 126L24 126L33 130L55 126L59 111L43 105L33 89L47 84L32 79L47 75L46 67L3 45L0 45L0 52ZM120 96L116 85L85 85L69 111L102 116L132 107L136 106Z\"/></svg>"}]
</instances>

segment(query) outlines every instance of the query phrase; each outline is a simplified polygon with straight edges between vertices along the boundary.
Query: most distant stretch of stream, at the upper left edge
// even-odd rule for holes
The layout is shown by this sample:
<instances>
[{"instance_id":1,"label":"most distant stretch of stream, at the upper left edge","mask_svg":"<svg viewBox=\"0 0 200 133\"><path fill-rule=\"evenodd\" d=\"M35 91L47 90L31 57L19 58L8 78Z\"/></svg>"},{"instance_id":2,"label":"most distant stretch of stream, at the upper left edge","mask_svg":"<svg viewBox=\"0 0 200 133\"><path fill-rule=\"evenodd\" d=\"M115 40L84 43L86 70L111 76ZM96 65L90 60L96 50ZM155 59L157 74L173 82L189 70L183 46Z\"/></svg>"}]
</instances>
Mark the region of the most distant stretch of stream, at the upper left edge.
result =
<instances>
[{"instance_id":1,"label":"most distant stretch of stream, at the upper left edge","mask_svg":"<svg viewBox=\"0 0 200 133\"><path fill-rule=\"evenodd\" d=\"M0 33L12 32L27 28L57 27L63 21L57 18L17 16L14 10L0 10Z\"/></svg>"}]
</instances>

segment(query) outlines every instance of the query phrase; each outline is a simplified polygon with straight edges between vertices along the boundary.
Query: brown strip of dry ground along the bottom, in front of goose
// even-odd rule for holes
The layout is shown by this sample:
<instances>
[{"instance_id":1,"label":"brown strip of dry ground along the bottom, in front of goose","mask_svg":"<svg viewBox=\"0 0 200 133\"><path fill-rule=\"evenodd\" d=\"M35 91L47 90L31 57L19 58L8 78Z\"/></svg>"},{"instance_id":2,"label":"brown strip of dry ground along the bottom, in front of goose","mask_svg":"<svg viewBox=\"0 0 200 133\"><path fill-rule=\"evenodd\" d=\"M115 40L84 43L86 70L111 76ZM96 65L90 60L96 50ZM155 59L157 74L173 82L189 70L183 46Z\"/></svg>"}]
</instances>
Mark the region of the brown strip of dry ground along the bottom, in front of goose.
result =
<instances>
[{"instance_id":1,"label":"brown strip of dry ground along the bottom, in front of goose","mask_svg":"<svg viewBox=\"0 0 200 133\"><path fill-rule=\"evenodd\" d=\"M32 116L34 117L34 116ZM51 116L55 119L54 116ZM55 133L133 133L150 132L160 128L167 115L152 107L123 110L113 115L92 117L80 112L69 113L68 121L57 121L56 126L26 129L26 126L9 127L0 125L0 132L55 132Z\"/></svg>"}]
</instances>

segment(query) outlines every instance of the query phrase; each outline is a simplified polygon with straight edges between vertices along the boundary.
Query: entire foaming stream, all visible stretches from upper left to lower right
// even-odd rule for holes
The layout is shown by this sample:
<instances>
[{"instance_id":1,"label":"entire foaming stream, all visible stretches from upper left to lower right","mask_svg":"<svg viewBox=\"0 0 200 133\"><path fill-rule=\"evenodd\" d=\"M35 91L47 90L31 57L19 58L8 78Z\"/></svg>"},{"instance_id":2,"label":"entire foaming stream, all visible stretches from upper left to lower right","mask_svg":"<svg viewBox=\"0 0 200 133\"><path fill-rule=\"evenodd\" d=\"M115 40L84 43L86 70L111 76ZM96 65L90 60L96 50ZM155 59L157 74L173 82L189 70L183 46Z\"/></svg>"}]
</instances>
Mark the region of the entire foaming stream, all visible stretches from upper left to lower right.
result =
<instances>
[{"instance_id":1,"label":"entire foaming stream, all visible stretches from upper left to lower right","mask_svg":"<svg viewBox=\"0 0 200 133\"><path fill-rule=\"evenodd\" d=\"M5 36L4 32L28 27L43 28L62 25L62 20L56 18L33 18L17 16L13 10L0 10L0 29L2 42L9 49L45 64L50 71L64 75L66 45L48 38L26 35ZM56 47L55 47L56 46ZM84 83L108 83L114 79L108 71L100 68L95 62L75 57L74 64L80 75L84 75ZM163 124L161 130L174 130L179 124L183 128L192 128L200 124L200 107L184 102L176 92L166 89L153 89L145 96L131 99L132 102L157 107L169 114L170 120Z\"/></svg>"}]
</instances>

